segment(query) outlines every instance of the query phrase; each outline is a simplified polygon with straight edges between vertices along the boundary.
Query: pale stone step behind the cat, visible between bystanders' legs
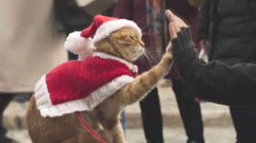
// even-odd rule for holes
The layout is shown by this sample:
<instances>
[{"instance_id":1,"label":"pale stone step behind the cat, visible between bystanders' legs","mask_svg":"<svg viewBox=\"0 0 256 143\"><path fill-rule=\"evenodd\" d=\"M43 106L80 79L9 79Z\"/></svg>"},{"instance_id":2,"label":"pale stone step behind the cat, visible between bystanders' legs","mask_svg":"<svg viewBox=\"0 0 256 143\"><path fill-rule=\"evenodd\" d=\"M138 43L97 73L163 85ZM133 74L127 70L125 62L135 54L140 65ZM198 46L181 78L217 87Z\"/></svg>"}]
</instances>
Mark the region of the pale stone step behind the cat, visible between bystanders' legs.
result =
<instances>
[{"instance_id":1,"label":"pale stone step behind the cat, visible between bystanders' legs","mask_svg":"<svg viewBox=\"0 0 256 143\"><path fill-rule=\"evenodd\" d=\"M159 97L162 107L162 117L165 128L181 128L183 123L176 103L173 90L170 85L163 87L159 83ZM9 129L25 129L25 114L29 103L23 104L12 101L4 112L4 125ZM203 123L205 127L231 127L232 120L228 107L201 103ZM125 109L127 118L127 128L142 128L139 104L133 104ZM215 142L216 143L216 142Z\"/></svg>"}]
</instances>

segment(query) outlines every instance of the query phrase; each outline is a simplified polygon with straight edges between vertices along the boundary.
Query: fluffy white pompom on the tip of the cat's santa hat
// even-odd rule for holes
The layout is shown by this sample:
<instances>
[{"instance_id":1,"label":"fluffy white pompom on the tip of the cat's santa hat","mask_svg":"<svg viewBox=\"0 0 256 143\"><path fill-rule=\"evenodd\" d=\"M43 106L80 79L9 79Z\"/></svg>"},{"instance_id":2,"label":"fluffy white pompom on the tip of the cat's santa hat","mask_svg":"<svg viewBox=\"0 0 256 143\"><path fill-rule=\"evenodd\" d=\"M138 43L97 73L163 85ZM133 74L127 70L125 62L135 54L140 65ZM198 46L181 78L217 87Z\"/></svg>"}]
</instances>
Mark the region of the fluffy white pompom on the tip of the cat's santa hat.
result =
<instances>
[{"instance_id":1,"label":"fluffy white pompom on the tip of the cat's santa hat","mask_svg":"<svg viewBox=\"0 0 256 143\"><path fill-rule=\"evenodd\" d=\"M69 34L66 42L64 43L64 48L69 50L71 53L78 54L78 60L83 61L87 56L93 54L94 45L91 37L84 38L83 36L80 36L80 34L80 31L75 31Z\"/></svg>"}]
</instances>

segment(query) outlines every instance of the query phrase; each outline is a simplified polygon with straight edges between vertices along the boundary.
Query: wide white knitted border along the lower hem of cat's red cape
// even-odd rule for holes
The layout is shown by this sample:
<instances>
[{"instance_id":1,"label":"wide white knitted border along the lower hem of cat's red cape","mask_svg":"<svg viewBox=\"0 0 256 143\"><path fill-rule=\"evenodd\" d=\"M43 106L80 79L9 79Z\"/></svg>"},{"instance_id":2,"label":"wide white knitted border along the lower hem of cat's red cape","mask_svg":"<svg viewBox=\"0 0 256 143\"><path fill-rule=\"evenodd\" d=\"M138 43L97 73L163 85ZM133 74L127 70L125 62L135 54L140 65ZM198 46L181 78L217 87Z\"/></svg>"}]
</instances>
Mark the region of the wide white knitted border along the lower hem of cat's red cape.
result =
<instances>
[{"instance_id":1,"label":"wide white knitted border along the lower hem of cat's red cape","mask_svg":"<svg viewBox=\"0 0 256 143\"><path fill-rule=\"evenodd\" d=\"M73 112L90 111L133 80L134 78L123 75L106 83L97 90L94 90L94 92L90 93L86 98L53 105L50 101L50 94L48 92L44 75L36 84L34 96L36 99L37 109L39 109L42 117L59 117Z\"/></svg>"}]
</instances>

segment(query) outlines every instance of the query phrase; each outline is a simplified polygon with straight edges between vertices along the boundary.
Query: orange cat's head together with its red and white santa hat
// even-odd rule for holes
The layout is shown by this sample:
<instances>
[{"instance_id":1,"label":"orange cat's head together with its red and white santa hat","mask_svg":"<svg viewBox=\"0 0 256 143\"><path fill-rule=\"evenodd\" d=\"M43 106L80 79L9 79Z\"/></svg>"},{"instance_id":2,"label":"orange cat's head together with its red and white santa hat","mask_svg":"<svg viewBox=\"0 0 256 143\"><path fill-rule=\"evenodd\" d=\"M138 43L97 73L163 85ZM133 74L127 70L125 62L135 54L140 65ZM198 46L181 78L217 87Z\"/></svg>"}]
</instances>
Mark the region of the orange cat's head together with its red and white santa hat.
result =
<instances>
[{"instance_id":1,"label":"orange cat's head together with its red and white santa hat","mask_svg":"<svg viewBox=\"0 0 256 143\"><path fill-rule=\"evenodd\" d=\"M135 61L144 52L141 36L140 28L131 20L97 15L91 26L69 34L64 47L78 54L79 60L94 52L102 52L127 61Z\"/></svg>"}]
</instances>

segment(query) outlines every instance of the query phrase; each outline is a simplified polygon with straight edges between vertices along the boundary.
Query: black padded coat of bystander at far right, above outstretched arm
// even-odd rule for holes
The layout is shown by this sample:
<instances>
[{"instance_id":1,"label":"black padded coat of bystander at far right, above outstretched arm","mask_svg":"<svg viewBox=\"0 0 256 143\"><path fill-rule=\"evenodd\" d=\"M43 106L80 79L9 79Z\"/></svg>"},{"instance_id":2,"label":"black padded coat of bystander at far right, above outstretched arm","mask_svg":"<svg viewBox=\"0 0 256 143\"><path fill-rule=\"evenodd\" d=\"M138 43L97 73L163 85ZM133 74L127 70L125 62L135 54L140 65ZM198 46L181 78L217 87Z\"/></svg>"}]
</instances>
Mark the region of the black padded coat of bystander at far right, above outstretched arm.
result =
<instances>
[{"instance_id":1,"label":"black padded coat of bystander at far right, above outstretched arm","mask_svg":"<svg viewBox=\"0 0 256 143\"><path fill-rule=\"evenodd\" d=\"M209 39L209 60L256 63L256 1L203 0L197 39Z\"/></svg>"}]
</instances>

